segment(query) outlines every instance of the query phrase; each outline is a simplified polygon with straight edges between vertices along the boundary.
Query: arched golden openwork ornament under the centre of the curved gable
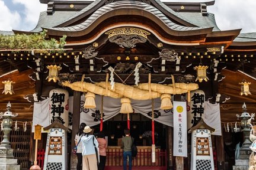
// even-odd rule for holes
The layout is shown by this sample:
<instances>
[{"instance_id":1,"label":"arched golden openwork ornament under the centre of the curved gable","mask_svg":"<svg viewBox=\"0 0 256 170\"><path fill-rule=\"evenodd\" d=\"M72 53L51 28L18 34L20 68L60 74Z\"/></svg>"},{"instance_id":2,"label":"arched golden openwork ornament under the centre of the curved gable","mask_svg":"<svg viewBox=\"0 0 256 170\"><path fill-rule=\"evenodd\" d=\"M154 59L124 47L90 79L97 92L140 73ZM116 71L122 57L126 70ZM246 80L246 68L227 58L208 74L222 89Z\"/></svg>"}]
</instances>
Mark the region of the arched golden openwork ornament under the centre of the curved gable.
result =
<instances>
[{"instance_id":1,"label":"arched golden openwork ornament under the centre of the curved gable","mask_svg":"<svg viewBox=\"0 0 256 170\"><path fill-rule=\"evenodd\" d=\"M116 28L116 29L105 32L105 34L108 35L108 38L113 37L115 35L140 35L144 38L147 38L147 35L150 35L148 31L145 31L139 28L129 28L129 27Z\"/></svg>"}]
</instances>

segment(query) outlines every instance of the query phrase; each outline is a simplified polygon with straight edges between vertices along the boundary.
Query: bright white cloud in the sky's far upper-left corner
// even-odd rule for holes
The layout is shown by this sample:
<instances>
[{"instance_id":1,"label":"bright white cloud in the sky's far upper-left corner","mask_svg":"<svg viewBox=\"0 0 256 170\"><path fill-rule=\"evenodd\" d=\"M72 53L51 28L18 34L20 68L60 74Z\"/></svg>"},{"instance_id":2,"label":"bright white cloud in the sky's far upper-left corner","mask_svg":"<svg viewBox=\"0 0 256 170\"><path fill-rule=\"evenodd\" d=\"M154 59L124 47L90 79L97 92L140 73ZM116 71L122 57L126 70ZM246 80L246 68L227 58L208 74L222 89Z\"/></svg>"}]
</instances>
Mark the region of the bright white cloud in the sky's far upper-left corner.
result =
<instances>
[{"instance_id":1,"label":"bright white cloud in the sky's far upper-left corner","mask_svg":"<svg viewBox=\"0 0 256 170\"><path fill-rule=\"evenodd\" d=\"M20 27L21 17L17 11L10 11L4 1L0 1L0 30L9 31Z\"/></svg>"}]
</instances>

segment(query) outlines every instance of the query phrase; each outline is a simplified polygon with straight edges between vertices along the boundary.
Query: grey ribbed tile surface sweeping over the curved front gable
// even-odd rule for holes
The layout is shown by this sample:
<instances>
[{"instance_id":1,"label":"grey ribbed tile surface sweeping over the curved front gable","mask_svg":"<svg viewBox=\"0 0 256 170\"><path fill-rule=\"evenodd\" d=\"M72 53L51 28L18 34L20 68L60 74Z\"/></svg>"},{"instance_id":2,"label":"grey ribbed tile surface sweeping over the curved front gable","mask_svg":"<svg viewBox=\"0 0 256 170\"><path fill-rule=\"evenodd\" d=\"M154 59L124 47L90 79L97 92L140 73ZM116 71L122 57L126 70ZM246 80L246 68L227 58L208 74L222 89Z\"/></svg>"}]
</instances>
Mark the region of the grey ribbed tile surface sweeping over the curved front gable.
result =
<instances>
[{"instance_id":1,"label":"grey ribbed tile surface sweeping over the curved front gable","mask_svg":"<svg viewBox=\"0 0 256 170\"><path fill-rule=\"evenodd\" d=\"M87 28L89 25L91 25L92 22L94 22L95 19L97 19L101 15L104 15L107 12L114 11L115 9L120 9L120 8L123 8L123 9L136 8L136 9L141 9L143 11L150 12L151 14L153 14L156 17L158 17L159 19L161 19L162 22L164 22L169 28L171 28L172 30L175 30L175 31L191 31L191 30L201 30L202 28L209 28L209 27L185 27L182 25L178 25L178 24L175 24L174 22L172 22L170 19L168 19L161 11L159 11L152 5L145 4L143 2L137 2L137 1L120 1L120 2L113 2L111 4L102 6L101 8L97 9L97 11L95 11L94 14L91 15L91 17L89 17L87 20L85 20L81 24L73 25L71 27L50 28L50 30L58 30L58 31L85 30L85 28ZM168 6L167 6L167 8L168 8ZM172 11L172 9L170 9L170 11ZM79 13L81 13L81 12L79 12ZM181 17L181 18L183 18L183 17Z\"/></svg>"}]
</instances>

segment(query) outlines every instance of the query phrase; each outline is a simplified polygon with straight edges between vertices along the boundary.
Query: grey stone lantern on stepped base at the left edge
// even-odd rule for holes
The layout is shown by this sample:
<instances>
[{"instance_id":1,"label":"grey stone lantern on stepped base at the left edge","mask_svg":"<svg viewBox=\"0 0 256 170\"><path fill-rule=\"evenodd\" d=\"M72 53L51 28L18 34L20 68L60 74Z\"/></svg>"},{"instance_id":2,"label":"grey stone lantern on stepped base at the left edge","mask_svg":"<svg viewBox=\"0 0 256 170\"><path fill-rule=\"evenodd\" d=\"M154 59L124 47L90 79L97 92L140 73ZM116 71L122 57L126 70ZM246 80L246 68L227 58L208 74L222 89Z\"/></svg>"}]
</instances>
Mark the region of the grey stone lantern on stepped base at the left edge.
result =
<instances>
[{"instance_id":1,"label":"grey stone lantern on stepped base at the left edge","mask_svg":"<svg viewBox=\"0 0 256 170\"><path fill-rule=\"evenodd\" d=\"M5 170L18 170L20 165L17 165L17 159L14 159L13 150L9 142L9 133L12 127L12 117L18 116L12 114L11 103L7 104L7 112L0 113L2 118L2 131L4 132L4 139L0 145L0 169Z\"/></svg>"}]
</instances>

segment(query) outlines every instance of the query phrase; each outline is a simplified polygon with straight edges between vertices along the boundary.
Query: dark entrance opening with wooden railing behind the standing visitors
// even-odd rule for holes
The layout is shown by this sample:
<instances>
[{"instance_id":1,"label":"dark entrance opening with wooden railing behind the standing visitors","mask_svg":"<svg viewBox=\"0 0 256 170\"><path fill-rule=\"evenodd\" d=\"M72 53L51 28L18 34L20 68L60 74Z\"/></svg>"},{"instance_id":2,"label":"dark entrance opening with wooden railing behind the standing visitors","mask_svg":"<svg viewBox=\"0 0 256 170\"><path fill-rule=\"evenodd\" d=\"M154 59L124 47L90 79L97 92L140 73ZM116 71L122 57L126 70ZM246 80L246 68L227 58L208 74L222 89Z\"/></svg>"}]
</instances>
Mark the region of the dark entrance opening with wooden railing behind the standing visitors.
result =
<instances>
[{"instance_id":1,"label":"dark entrance opening with wooden railing behind the standing visitors","mask_svg":"<svg viewBox=\"0 0 256 170\"><path fill-rule=\"evenodd\" d=\"M152 163L152 120L139 113L130 114L130 134L135 139L138 153L133 159L133 169L167 169L167 142L165 125L155 122L155 158ZM100 125L93 126L95 135L100 131ZM105 169L123 169L123 149L121 138L127 128L127 115L119 114L104 122L103 131L108 141Z\"/></svg>"}]
</instances>

